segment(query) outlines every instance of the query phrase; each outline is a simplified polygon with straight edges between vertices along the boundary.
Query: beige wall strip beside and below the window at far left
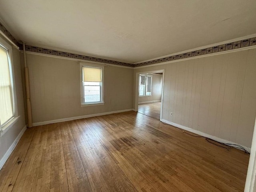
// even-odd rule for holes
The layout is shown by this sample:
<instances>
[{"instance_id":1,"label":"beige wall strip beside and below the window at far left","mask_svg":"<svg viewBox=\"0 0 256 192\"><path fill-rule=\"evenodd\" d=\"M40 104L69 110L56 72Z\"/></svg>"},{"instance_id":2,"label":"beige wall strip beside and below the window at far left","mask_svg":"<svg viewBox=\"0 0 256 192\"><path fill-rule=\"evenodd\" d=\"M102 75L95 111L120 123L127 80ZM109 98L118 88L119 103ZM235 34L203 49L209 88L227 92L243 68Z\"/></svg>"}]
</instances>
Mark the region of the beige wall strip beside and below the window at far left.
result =
<instances>
[{"instance_id":1,"label":"beige wall strip beside and below the window at far left","mask_svg":"<svg viewBox=\"0 0 256 192\"><path fill-rule=\"evenodd\" d=\"M16 48L12 48L12 64L14 66L14 81L16 86L16 96L17 96L17 108L18 116L20 118L18 121L8 129L6 133L0 137L0 160L3 158L4 154L10 148L14 140L20 134L21 130L26 125L25 114L24 114L24 100L23 100L23 90L22 90L22 68L20 66L20 52Z\"/></svg>"}]
</instances>

